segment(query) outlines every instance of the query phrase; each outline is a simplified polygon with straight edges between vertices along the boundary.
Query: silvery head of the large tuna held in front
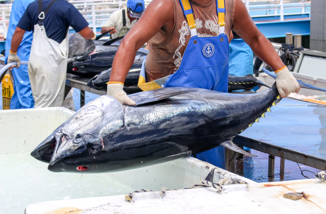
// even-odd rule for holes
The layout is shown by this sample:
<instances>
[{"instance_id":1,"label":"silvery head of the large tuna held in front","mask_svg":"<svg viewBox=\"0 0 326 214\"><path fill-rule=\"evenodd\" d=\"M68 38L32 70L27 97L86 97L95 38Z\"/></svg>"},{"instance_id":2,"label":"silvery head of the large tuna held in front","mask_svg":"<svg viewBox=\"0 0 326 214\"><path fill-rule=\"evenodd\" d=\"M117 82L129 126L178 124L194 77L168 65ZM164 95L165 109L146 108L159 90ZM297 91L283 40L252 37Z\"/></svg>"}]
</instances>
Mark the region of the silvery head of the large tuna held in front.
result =
<instances>
[{"instance_id":1,"label":"silvery head of the large tuna held in front","mask_svg":"<svg viewBox=\"0 0 326 214\"><path fill-rule=\"evenodd\" d=\"M48 170L94 171L96 153L104 148L103 137L123 127L123 108L111 96L87 103L53 134L55 148Z\"/></svg>"}]
</instances>

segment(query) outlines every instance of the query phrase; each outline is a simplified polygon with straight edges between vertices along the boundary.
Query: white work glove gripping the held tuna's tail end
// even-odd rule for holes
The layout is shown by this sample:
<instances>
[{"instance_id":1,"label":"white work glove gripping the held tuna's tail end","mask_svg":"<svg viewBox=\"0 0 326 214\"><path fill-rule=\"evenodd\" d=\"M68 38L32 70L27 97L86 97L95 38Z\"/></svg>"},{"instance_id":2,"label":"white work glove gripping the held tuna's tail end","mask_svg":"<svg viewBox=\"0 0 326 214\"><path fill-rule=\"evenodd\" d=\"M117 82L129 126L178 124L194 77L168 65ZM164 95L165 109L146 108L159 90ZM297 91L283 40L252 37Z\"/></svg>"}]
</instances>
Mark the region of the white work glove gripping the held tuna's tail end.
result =
<instances>
[{"instance_id":1,"label":"white work glove gripping the held tuna's tail end","mask_svg":"<svg viewBox=\"0 0 326 214\"><path fill-rule=\"evenodd\" d=\"M300 86L287 67L282 68L276 73L276 87L281 97L285 98L290 93L299 92Z\"/></svg>"}]
</instances>

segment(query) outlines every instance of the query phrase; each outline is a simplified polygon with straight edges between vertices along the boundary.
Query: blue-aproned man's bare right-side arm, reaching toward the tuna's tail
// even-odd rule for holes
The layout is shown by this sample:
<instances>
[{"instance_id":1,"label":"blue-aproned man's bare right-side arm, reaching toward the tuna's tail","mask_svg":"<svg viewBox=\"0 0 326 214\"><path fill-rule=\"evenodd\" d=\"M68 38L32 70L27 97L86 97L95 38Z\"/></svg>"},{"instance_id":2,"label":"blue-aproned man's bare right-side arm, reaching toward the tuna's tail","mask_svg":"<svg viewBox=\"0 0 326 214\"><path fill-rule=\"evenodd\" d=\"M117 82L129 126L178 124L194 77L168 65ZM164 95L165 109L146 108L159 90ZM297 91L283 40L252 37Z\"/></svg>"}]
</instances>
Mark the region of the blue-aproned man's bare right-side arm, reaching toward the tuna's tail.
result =
<instances>
[{"instance_id":1,"label":"blue-aproned man's bare right-side arm, reaching toward the tuna's tail","mask_svg":"<svg viewBox=\"0 0 326 214\"><path fill-rule=\"evenodd\" d=\"M232 30L251 47L258 58L263 60L274 71L285 66L272 43L253 23L242 0L236 0Z\"/></svg>"}]
</instances>

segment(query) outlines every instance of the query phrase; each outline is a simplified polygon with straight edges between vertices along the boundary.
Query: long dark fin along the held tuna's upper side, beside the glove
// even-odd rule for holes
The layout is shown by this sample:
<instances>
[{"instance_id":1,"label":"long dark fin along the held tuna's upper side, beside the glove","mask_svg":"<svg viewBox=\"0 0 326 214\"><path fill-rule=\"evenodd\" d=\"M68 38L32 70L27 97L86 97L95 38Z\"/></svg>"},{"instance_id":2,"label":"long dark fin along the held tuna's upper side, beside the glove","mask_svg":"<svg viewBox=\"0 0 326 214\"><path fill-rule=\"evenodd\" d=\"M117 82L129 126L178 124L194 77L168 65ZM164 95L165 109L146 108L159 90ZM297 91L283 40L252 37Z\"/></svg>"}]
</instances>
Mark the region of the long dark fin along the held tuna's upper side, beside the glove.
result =
<instances>
[{"instance_id":1,"label":"long dark fin along the held tuna's upper side, beside the glove","mask_svg":"<svg viewBox=\"0 0 326 214\"><path fill-rule=\"evenodd\" d=\"M190 93L195 90L187 90L184 87L164 87L154 90L143 91L129 95L129 98L136 102L136 106L143 105L146 103L156 102L172 96Z\"/></svg>"}]
</instances>

